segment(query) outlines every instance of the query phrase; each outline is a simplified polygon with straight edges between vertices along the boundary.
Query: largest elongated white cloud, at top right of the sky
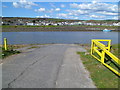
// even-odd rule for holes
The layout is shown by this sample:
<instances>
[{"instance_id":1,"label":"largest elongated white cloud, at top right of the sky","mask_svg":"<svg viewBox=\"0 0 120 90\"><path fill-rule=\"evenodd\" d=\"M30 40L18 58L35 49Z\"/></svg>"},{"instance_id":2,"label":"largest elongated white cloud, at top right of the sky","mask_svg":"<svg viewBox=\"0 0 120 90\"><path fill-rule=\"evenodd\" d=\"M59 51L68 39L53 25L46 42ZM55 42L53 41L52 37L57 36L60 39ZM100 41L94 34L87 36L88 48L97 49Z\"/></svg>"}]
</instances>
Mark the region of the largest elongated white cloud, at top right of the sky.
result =
<instances>
[{"instance_id":1,"label":"largest elongated white cloud, at top right of the sky","mask_svg":"<svg viewBox=\"0 0 120 90\"><path fill-rule=\"evenodd\" d=\"M71 3L71 8L87 10L91 12L106 11L106 12L118 12L118 6L110 3L101 3L93 1L92 3Z\"/></svg>"}]
</instances>

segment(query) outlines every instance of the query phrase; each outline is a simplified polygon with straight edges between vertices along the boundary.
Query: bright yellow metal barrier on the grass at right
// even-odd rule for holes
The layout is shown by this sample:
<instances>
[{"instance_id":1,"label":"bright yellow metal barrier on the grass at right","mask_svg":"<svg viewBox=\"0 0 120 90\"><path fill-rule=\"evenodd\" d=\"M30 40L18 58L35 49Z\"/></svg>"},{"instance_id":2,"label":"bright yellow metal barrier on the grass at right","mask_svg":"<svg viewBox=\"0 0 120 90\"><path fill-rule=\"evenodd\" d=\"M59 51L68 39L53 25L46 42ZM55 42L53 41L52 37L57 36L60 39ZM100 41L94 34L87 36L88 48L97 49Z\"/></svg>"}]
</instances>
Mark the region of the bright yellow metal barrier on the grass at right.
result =
<instances>
[{"instance_id":1,"label":"bright yellow metal barrier on the grass at right","mask_svg":"<svg viewBox=\"0 0 120 90\"><path fill-rule=\"evenodd\" d=\"M101 42L107 42L107 45L101 43ZM113 62L117 63L120 65L120 59L118 59L115 55L113 55L110 52L110 47L111 47L111 40L102 40L102 39L93 39L92 44L91 44L91 55L96 58L98 61L100 61L103 65L108 67L110 70L112 70L114 73L116 73L118 76L120 76L120 70L114 69L110 65L108 65L105 62L106 55L109 56ZM100 57L98 58L95 53Z\"/></svg>"}]
</instances>

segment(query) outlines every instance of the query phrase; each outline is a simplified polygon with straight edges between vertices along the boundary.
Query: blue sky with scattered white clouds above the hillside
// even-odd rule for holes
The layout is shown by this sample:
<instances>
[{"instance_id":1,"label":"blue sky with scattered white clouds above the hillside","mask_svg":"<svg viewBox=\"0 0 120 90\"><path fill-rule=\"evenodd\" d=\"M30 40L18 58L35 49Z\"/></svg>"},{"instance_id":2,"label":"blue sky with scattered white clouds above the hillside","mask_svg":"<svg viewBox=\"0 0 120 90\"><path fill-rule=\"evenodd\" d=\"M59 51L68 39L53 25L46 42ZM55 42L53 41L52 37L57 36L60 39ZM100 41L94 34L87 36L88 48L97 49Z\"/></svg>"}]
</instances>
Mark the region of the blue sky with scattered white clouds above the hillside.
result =
<instances>
[{"instance_id":1,"label":"blue sky with scattered white clouds above the hillside","mask_svg":"<svg viewBox=\"0 0 120 90\"><path fill-rule=\"evenodd\" d=\"M89 2L32 2L32 0L4 1L2 2L2 16L77 20L118 20L117 1L88 1Z\"/></svg>"}]
</instances>

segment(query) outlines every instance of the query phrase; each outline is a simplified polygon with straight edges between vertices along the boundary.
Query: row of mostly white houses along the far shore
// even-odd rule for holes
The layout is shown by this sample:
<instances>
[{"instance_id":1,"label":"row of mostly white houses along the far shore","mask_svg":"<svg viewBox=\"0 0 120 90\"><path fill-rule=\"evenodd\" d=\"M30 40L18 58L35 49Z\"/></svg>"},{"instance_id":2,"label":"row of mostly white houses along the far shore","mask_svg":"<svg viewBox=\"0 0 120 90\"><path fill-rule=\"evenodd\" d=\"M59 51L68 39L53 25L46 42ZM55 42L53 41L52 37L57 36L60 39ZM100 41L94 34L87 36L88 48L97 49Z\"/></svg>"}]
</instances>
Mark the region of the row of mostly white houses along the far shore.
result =
<instances>
[{"instance_id":1,"label":"row of mostly white houses along the far shore","mask_svg":"<svg viewBox=\"0 0 120 90\"><path fill-rule=\"evenodd\" d=\"M64 21L64 22L52 22L52 21L28 21L28 20L22 20L22 19L18 19L16 21L3 21L2 25L28 25L28 26L48 26L48 25L102 25L102 26L120 26L120 22L118 23L92 23L92 22L86 22L86 21L77 21L77 22L68 22L68 21Z\"/></svg>"}]
</instances>

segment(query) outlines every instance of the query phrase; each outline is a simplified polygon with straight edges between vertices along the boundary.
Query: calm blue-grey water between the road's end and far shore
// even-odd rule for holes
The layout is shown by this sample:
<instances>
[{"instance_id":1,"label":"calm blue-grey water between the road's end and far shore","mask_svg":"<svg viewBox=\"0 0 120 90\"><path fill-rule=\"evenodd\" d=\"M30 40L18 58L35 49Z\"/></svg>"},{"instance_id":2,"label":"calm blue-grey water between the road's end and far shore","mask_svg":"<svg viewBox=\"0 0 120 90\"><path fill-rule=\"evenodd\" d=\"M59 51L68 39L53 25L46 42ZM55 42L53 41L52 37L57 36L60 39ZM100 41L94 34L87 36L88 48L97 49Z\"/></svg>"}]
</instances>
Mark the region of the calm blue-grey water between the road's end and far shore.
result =
<instances>
[{"instance_id":1,"label":"calm blue-grey water between the road's end and far shore","mask_svg":"<svg viewBox=\"0 0 120 90\"><path fill-rule=\"evenodd\" d=\"M90 44L91 39L112 39L112 44L118 43L118 32L3 32L3 38L9 44Z\"/></svg>"}]
</instances>

